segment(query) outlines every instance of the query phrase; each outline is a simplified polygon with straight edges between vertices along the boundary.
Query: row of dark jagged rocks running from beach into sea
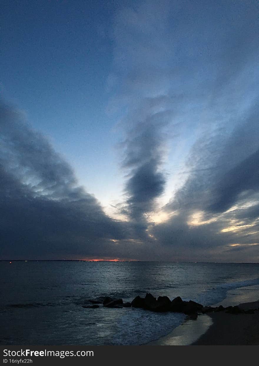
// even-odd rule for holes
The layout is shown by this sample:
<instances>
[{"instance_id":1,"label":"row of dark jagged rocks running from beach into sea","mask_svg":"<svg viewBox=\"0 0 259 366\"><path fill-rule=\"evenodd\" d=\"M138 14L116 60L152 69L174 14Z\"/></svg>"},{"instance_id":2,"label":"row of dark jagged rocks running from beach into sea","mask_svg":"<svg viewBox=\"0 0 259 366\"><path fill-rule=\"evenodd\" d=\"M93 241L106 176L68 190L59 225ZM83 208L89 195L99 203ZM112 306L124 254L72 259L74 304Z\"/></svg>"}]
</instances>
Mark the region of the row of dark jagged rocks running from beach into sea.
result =
<instances>
[{"instance_id":1,"label":"row of dark jagged rocks running from beach into sea","mask_svg":"<svg viewBox=\"0 0 259 366\"><path fill-rule=\"evenodd\" d=\"M123 299L111 298L109 296L99 296L96 299L87 300L87 305L82 307L95 309L98 308L99 305L102 304L104 307L111 308L123 308L123 307L135 307L141 308L144 310L156 311L156 312L164 312L164 311L172 311L175 313L184 313L191 317L196 316L198 314L205 314L211 312L224 311L229 314L254 314L255 310L258 309L249 309L242 310L239 306L228 306L223 307L222 305L218 307L211 306L203 306L195 301L189 300L184 301L177 296L172 301L167 296L158 296L156 299L151 294L146 294L144 298L140 296L136 296L132 302L123 303Z\"/></svg>"}]
</instances>

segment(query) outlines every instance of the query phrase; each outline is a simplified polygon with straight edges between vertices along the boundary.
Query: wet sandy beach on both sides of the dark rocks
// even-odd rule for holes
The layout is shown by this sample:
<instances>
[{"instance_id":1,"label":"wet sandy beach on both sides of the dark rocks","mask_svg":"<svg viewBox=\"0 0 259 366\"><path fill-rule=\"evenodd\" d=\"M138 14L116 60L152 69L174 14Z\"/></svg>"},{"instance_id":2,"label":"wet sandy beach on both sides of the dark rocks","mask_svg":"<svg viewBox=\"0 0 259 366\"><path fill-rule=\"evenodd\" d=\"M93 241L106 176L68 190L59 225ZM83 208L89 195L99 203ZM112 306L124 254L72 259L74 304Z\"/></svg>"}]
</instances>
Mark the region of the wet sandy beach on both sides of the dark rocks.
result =
<instances>
[{"instance_id":1,"label":"wet sandy beach on both sides of the dark rocks","mask_svg":"<svg viewBox=\"0 0 259 366\"><path fill-rule=\"evenodd\" d=\"M259 285L229 290L227 297L213 306L240 305L244 310L259 307ZM210 313L185 321L168 335L143 346L258 345L259 311L255 314Z\"/></svg>"}]
</instances>

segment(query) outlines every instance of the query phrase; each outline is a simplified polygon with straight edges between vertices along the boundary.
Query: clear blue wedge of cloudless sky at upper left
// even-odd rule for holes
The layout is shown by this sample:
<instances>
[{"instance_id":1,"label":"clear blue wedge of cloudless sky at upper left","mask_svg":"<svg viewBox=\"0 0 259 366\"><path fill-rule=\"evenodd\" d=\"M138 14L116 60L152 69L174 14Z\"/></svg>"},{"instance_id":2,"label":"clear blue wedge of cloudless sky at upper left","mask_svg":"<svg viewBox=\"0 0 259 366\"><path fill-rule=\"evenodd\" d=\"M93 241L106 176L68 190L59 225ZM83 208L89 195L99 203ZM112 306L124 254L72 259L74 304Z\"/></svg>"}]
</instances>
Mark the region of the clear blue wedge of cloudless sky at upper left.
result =
<instances>
[{"instance_id":1,"label":"clear blue wedge of cloudless sky at upper left","mask_svg":"<svg viewBox=\"0 0 259 366\"><path fill-rule=\"evenodd\" d=\"M7 1L4 10L4 97L50 138L87 190L105 199L116 184L109 177L118 174L116 120L105 111L116 6L106 1L77 1L76 6L71 1Z\"/></svg>"}]
</instances>

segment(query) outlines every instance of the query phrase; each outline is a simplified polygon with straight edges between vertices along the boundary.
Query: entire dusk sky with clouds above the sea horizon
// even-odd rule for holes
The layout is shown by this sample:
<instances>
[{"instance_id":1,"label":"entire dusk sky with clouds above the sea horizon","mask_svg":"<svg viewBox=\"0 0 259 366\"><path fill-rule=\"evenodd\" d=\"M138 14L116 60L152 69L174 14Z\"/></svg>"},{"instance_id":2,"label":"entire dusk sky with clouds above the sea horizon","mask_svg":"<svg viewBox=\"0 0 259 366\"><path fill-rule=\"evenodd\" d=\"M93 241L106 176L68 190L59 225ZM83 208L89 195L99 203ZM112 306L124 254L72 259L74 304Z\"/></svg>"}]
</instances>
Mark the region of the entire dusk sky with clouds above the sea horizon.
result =
<instances>
[{"instance_id":1,"label":"entire dusk sky with clouds above the sea horizon","mask_svg":"<svg viewBox=\"0 0 259 366\"><path fill-rule=\"evenodd\" d=\"M0 259L259 262L258 12L3 0Z\"/></svg>"}]
</instances>

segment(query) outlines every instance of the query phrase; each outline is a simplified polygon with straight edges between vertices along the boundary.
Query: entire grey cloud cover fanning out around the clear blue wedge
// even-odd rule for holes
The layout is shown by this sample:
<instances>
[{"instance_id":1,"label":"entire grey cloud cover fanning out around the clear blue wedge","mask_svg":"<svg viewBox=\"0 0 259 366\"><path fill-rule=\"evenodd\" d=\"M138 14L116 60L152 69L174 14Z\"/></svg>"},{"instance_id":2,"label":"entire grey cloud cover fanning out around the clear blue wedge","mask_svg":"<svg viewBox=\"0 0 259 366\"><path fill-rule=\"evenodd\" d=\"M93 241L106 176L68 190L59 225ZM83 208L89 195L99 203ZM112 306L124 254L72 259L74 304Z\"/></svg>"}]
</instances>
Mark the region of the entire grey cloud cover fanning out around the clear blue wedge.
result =
<instances>
[{"instance_id":1,"label":"entire grey cloud cover fanning out around the clear blue wedge","mask_svg":"<svg viewBox=\"0 0 259 366\"><path fill-rule=\"evenodd\" d=\"M123 134L127 221L105 215L1 104L2 256L259 261L257 4L187 5L144 1L115 15L107 109Z\"/></svg>"}]
</instances>

